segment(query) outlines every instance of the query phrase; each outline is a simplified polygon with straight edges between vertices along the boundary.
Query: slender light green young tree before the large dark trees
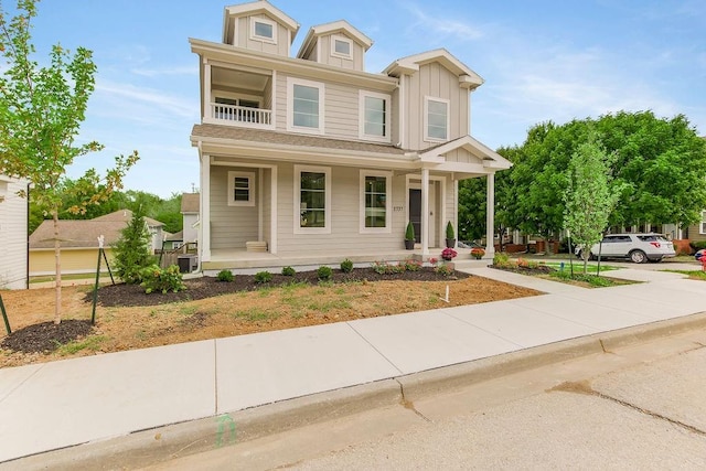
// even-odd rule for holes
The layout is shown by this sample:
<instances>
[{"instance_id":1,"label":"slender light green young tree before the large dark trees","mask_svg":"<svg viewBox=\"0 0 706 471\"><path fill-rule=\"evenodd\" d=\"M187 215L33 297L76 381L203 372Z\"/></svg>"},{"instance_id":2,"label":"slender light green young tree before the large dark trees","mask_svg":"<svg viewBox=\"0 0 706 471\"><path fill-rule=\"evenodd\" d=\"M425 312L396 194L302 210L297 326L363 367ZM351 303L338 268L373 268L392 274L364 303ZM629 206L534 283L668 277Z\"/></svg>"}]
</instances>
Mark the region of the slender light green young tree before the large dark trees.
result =
<instances>
[{"instance_id":1,"label":"slender light green young tree before the large dark trees","mask_svg":"<svg viewBox=\"0 0 706 471\"><path fill-rule=\"evenodd\" d=\"M618 201L611 189L610 160L602 147L589 136L569 160L567 185L564 193L564 227L571 239L584 247L584 274L587 271L590 247L598 243L608 226L608 218Z\"/></svg>"}]
</instances>

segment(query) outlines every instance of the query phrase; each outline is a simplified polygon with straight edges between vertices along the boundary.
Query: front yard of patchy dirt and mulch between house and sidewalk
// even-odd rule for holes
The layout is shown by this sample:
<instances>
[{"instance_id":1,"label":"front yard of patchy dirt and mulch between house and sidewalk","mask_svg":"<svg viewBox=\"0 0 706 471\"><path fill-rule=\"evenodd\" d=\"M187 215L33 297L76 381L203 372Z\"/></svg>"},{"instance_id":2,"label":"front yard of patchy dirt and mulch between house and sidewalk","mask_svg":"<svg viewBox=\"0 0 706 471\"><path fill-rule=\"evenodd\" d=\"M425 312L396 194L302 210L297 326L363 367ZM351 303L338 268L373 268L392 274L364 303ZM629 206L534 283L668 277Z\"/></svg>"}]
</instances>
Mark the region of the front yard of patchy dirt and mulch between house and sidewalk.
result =
<instances>
[{"instance_id":1,"label":"front yard of patchy dirt and mulch between house and sidewalk","mask_svg":"<svg viewBox=\"0 0 706 471\"><path fill-rule=\"evenodd\" d=\"M66 287L62 325L71 327L75 335L46 335L49 343L42 345L49 347L12 342L24 328L36 329L35 324L53 319L54 290L3 291L13 334L2 331L0 367L538 295L461 272L447 278L430 268L393 275L334 270L325 282L319 282L315 272L276 275L266 285L248 276L236 276L233 282L213 278L185 282L185 291L167 295L145 295L137 286L101 287L96 325L88 332L75 327L90 320L90 287ZM447 286L448 303L442 300Z\"/></svg>"}]
</instances>

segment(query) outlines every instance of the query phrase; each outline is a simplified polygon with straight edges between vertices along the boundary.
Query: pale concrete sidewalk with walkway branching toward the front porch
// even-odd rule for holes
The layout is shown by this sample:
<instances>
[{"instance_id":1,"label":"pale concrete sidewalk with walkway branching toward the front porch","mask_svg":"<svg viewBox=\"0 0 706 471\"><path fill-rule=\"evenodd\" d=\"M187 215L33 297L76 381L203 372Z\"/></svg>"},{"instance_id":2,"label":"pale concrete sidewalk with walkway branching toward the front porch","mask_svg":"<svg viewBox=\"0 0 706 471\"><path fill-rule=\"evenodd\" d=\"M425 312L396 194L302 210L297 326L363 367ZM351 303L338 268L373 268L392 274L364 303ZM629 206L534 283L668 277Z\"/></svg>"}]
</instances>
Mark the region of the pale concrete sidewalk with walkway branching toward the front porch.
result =
<instances>
[{"instance_id":1,"label":"pale concrete sidewalk with walkway branching toward the front porch","mask_svg":"<svg viewBox=\"0 0 706 471\"><path fill-rule=\"evenodd\" d=\"M584 289L464 270L547 295L3 368L0 462L706 311L677 274Z\"/></svg>"}]
</instances>

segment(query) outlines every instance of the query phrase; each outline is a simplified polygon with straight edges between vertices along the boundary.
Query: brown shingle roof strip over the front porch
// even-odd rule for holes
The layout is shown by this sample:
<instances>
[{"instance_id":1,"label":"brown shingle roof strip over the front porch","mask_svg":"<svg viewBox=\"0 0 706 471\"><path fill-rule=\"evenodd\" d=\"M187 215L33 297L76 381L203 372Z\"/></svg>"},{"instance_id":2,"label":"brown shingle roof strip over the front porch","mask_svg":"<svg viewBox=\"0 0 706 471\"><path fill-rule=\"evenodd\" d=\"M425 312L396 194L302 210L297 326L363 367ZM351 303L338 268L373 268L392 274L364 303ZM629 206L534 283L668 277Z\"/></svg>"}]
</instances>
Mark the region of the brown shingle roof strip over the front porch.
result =
<instances>
[{"instance_id":1,"label":"brown shingle roof strip over the front porch","mask_svg":"<svg viewBox=\"0 0 706 471\"><path fill-rule=\"evenodd\" d=\"M191 135L192 137L231 139L257 143L267 142L281 146L341 149L353 152L387 153L392 156L405 154L405 150L393 144L319 138L314 136L291 135L261 129L238 128L235 126L195 125Z\"/></svg>"}]
</instances>

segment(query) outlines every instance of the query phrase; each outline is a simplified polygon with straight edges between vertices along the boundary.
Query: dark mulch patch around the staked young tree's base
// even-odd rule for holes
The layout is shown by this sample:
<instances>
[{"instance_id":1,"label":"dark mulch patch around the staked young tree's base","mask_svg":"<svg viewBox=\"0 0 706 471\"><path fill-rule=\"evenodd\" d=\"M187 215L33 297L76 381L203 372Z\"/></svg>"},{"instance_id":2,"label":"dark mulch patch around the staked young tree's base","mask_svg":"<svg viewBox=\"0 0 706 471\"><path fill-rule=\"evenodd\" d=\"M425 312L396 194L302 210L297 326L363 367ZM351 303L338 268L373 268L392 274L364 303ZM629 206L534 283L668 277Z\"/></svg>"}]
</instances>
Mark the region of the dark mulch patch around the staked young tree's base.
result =
<instances>
[{"instance_id":1,"label":"dark mulch patch around the staked young tree's base","mask_svg":"<svg viewBox=\"0 0 706 471\"><path fill-rule=\"evenodd\" d=\"M51 352L57 346L88 335L93 330L90 321L67 319L60 324L42 322L12 332L0 343L0 347L15 352Z\"/></svg>"}]
</instances>

